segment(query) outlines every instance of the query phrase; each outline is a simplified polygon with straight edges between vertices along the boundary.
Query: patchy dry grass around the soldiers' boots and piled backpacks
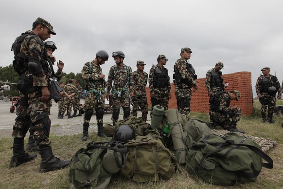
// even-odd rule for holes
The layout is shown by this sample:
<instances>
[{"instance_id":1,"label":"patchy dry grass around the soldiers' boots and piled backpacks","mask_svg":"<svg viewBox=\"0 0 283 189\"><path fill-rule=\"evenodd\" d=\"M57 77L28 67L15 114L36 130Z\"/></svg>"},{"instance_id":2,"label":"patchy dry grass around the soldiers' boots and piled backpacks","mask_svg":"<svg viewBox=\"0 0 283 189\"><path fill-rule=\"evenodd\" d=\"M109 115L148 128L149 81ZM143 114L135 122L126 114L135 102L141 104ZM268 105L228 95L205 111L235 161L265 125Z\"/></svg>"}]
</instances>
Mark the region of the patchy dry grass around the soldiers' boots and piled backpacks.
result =
<instances>
[{"instance_id":1,"label":"patchy dry grass around the soldiers' boots and piled backpacks","mask_svg":"<svg viewBox=\"0 0 283 189\"><path fill-rule=\"evenodd\" d=\"M277 105L282 105L279 101ZM206 113L192 113L191 117L209 121ZM211 185L198 180L194 175L188 173L184 167L179 166L176 174L169 180L162 180L154 183L135 183L120 174L116 174L111 179L107 188L109 189L279 189L283 188L283 116L274 117L275 124L264 124L261 122L260 104L254 102L254 113L250 116L243 116L237 127L245 130L249 135L270 138L277 141L278 145L267 152L273 159L274 168L271 170L263 168L256 182L239 184L234 187L221 187ZM90 133L89 138L100 140L96 133ZM70 136L50 135L52 141L53 154L60 159L71 159L71 156L80 148L85 148L88 142L81 141L81 134ZM27 142L27 138L25 138ZM13 139L11 137L0 138L0 189L69 189L69 169L39 173L40 157L34 161L22 164L19 167L8 169L12 156ZM39 154L38 154L39 155Z\"/></svg>"}]
</instances>

